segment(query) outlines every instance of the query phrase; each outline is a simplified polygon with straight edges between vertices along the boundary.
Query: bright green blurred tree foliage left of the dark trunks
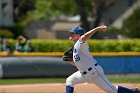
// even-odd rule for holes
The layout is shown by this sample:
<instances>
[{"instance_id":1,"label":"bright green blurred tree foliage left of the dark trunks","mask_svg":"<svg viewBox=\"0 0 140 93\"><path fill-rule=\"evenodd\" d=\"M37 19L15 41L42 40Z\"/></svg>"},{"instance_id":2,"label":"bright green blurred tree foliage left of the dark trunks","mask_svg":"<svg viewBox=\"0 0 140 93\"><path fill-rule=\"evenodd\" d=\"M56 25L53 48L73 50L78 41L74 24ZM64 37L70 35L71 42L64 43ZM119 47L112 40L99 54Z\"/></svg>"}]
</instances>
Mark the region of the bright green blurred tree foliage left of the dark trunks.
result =
<instances>
[{"instance_id":1,"label":"bright green blurred tree foliage left of the dark trunks","mask_svg":"<svg viewBox=\"0 0 140 93\"><path fill-rule=\"evenodd\" d=\"M24 1L24 0L23 0ZM28 1L28 0L27 0ZM32 1L32 0L31 0ZM57 19L58 16L74 15L77 10L73 0L33 0L34 9L29 9L20 20L19 25L25 27L29 22L33 20L48 20L51 18ZM24 8L23 8L24 9Z\"/></svg>"}]
</instances>

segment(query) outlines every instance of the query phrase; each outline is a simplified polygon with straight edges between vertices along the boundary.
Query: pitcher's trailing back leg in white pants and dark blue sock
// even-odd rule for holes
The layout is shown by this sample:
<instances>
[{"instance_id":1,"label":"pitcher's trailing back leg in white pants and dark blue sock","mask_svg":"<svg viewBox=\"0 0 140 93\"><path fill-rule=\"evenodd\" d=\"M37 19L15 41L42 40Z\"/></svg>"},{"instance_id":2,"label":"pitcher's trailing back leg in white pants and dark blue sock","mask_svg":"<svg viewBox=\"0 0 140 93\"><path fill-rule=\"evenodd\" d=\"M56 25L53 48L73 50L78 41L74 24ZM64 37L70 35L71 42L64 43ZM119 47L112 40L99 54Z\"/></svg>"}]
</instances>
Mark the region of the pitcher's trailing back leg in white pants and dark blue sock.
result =
<instances>
[{"instance_id":1,"label":"pitcher's trailing back leg in white pants and dark blue sock","mask_svg":"<svg viewBox=\"0 0 140 93\"><path fill-rule=\"evenodd\" d=\"M113 86L112 83L105 76L101 66L96 68L96 72L93 75L94 83L107 93L136 93L131 89L122 86Z\"/></svg>"}]
</instances>

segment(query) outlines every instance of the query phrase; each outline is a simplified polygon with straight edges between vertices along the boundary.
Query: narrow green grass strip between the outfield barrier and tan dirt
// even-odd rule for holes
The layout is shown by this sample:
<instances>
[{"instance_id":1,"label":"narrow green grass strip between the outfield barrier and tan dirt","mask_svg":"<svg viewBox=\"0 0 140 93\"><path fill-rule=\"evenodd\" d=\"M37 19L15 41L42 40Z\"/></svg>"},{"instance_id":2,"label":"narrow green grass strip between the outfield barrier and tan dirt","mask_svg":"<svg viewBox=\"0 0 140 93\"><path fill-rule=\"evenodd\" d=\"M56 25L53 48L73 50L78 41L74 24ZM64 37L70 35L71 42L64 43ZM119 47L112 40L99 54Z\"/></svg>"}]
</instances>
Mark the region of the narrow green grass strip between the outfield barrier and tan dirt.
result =
<instances>
[{"instance_id":1,"label":"narrow green grass strip between the outfield barrier and tan dirt","mask_svg":"<svg viewBox=\"0 0 140 93\"><path fill-rule=\"evenodd\" d=\"M140 75L109 75L107 77L112 83L140 83ZM0 79L0 85L65 83L65 80L66 78Z\"/></svg>"}]
</instances>

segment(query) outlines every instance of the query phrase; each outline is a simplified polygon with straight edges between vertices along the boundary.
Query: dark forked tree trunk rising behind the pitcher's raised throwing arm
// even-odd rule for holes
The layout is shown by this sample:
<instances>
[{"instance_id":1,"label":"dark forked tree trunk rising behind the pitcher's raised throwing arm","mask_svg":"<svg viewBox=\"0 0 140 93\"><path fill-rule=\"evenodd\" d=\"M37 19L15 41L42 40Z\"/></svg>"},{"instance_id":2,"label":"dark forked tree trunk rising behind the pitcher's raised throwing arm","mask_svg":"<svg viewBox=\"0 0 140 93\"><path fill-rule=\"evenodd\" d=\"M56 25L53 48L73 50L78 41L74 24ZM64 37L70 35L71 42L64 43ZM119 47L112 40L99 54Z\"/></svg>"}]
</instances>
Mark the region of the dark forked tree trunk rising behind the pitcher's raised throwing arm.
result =
<instances>
[{"instance_id":1,"label":"dark forked tree trunk rising behind the pitcher's raised throwing arm","mask_svg":"<svg viewBox=\"0 0 140 93\"><path fill-rule=\"evenodd\" d=\"M116 0L91 0L92 13L94 16L92 28L103 24L103 13L108 9ZM100 39L99 32L95 33L94 38Z\"/></svg>"}]
</instances>

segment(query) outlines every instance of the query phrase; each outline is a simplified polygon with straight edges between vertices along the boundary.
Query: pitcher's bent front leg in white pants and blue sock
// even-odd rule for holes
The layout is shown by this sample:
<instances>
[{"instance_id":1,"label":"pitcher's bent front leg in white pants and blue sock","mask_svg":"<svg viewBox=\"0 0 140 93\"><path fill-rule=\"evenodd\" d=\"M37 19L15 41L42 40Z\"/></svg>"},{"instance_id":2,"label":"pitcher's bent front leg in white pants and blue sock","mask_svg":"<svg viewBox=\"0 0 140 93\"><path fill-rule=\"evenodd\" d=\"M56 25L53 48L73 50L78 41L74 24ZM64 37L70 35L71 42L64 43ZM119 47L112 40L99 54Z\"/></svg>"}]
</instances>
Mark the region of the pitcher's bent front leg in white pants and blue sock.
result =
<instances>
[{"instance_id":1,"label":"pitcher's bent front leg in white pants and blue sock","mask_svg":"<svg viewBox=\"0 0 140 93\"><path fill-rule=\"evenodd\" d=\"M73 73L66 79L66 93L73 93L74 85L84 83L85 78L81 75L79 71Z\"/></svg>"}]
</instances>

